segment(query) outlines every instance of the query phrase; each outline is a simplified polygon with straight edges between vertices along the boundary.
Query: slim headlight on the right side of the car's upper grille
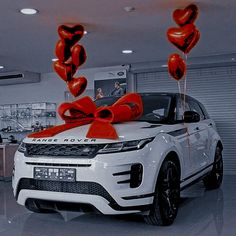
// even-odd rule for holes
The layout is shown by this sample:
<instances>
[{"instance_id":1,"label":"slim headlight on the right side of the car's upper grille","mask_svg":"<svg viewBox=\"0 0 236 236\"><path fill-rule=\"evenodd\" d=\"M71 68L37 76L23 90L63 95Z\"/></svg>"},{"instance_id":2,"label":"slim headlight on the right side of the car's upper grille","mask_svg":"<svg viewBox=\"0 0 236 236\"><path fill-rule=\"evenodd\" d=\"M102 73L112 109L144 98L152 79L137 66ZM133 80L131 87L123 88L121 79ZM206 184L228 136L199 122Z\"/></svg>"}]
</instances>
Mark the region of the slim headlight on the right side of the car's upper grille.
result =
<instances>
[{"instance_id":1,"label":"slim headlight on the right side of the car's upper grille","mask_svg":"<svg viewBox=\"0 0 236 236\"><path fill-rule=\"evenodd\" d=\"M103 149L100 149L98 153L113 153L113 152L125 152L142 149L147 143L150 143L154 138L133 140L120 143L109 143Z\"/></svg>"}]
</instances>

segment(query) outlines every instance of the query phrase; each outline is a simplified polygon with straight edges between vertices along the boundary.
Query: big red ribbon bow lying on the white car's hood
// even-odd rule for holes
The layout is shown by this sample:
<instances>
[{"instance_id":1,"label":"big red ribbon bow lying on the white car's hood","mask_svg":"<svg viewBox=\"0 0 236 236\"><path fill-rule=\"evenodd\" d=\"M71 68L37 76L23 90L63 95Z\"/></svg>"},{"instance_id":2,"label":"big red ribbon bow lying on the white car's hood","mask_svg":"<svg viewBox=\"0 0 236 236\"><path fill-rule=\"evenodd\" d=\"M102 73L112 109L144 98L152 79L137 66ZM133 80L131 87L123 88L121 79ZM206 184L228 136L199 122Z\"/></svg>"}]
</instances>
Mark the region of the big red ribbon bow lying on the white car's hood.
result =
<instances>
[{"instance_id":1,"label":"big red ribbon bow lying on the white car's hood","mask_svg":"<svg viewBox=\"0 0 236 236\"><path fill-rule=\"evenodd\" d=\"M143 113L143 104L137 93L126 94L112 106L99 108L90 97L83 97L72 103L62 103L58 113L65 124L32 133L28 137L52 137L65 130L91 123L87 138L118 139L112 124L138 119Z\"/></svg>"}]
</instances>

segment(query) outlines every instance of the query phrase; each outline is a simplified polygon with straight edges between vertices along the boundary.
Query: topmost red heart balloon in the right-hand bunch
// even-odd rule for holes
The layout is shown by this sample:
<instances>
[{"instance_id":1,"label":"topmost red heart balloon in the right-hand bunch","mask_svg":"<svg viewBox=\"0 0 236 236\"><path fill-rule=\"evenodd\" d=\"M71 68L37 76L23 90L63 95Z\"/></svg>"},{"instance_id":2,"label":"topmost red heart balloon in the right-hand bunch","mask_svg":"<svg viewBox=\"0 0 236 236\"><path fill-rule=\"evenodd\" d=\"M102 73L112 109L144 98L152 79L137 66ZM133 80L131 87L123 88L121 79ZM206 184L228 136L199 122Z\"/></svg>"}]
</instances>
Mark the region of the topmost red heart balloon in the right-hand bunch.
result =
<instances>
[{"instance_id":1,"label":"topmost red heart balloon in the right-hand bunch","mask_svg":"<svg viewBox=\"0 0 236 236\"><path fill-rule=\"evenodd\" d=\"M198 7L195 4L190 4L184 9L176 9L173 12L173 19L179 26L192 24L198 16Z\"/></svg>"}]
</instances>

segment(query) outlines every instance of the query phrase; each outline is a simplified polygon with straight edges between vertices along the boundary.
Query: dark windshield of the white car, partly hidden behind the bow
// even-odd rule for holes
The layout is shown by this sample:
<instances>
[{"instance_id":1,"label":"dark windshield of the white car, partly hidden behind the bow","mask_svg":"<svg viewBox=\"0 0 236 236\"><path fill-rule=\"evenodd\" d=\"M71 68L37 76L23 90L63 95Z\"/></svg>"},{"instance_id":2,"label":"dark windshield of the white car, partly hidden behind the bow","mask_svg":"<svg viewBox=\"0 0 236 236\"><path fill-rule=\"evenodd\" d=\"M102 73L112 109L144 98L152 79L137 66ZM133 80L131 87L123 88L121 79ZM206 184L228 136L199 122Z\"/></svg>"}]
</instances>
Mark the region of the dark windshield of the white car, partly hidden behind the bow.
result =
<instances>
[{"instance_id":1,"label":"dark windshield of the white car, partly hidden behind the bow","mask_svg":"<svg viewBox=\"0 0 236 236\"><path fill-rule=\"evenodd\" d=\"M95 101L97 107L110 106L120 97L105 97ZM169 116L171 97L168 95L143 95L143 115L138 121L165 123Z\"/></svg>"}]
</instances>

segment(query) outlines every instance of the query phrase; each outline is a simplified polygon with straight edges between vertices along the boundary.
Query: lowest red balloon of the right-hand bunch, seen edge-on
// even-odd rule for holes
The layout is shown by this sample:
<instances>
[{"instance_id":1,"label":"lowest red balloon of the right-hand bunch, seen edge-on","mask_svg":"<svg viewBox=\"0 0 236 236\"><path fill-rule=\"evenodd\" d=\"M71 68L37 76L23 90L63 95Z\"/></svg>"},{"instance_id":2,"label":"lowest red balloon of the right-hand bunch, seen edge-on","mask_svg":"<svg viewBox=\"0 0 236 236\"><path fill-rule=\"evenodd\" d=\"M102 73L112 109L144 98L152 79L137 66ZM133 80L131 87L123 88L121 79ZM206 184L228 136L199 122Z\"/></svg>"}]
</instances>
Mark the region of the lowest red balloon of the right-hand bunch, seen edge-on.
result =
<instances>
[{"instance_id":1,"label":"lowest red balloon of the right-hand bunch, seen edge-on","mask_svg":"<svg viewBox=\"0 0 236 236\"><path fill-rule=\"evenodd\" d=\"M169 74L177 81L182 79L186 73L185 61L179 56L179 54L174 53L169 56L168 71Z\"/></svg>"}]
</instances>

